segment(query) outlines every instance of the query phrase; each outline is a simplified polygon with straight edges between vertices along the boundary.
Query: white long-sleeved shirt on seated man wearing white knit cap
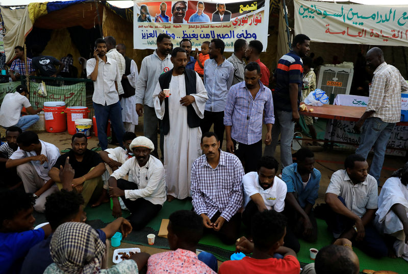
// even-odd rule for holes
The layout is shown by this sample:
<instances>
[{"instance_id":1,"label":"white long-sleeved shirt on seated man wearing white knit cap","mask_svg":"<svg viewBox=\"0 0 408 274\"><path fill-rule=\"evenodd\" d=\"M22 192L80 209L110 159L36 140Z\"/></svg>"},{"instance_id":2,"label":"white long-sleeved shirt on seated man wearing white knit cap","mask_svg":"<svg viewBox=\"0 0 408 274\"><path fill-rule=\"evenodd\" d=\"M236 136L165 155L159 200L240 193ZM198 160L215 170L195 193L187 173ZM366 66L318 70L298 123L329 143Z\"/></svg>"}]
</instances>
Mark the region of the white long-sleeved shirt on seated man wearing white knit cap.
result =
<instances>
[{"instance_id":1,"label":"white long-sleeved shirt on seated man wearing white knit cap","mask_svg":"<svg viewBox=\"0 0 408 274\"><path fill-rule=\"evenodd\" d=\"M125 190L126 199L144 198L153 204L163 205L166 201L166 182L164 167L158 158L150 155L146 165L140 167L136 157L133 157L113 172L111 177L120 179L127 173L129 181L135 182L138 189Z\"/></svg>"}]
</instances>

